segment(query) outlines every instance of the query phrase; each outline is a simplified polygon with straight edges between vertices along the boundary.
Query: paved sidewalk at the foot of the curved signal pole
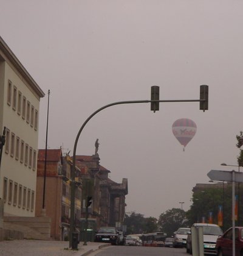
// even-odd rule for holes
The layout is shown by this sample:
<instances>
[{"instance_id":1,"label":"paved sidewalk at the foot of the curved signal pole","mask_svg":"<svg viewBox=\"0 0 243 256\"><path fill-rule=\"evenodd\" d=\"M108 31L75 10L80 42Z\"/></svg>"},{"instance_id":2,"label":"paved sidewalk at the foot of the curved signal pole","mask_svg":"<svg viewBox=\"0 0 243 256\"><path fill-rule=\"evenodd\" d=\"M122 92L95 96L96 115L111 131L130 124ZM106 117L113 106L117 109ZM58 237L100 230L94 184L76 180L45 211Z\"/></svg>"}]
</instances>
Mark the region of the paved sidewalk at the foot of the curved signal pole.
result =
<instances>
[{"instance_id":1,"label":"paved sidewalk at the foot of the curved signal pole","mask_svg":"<svg viewBox=\"0 0 243 256\"><path fill-rule=\"evenodd\" d=\"M1 256L86 256L111 244L83 242L78 244L78 251L69 249L68 241L13 240L0 241Z\"/></svg>"}]
</instances>

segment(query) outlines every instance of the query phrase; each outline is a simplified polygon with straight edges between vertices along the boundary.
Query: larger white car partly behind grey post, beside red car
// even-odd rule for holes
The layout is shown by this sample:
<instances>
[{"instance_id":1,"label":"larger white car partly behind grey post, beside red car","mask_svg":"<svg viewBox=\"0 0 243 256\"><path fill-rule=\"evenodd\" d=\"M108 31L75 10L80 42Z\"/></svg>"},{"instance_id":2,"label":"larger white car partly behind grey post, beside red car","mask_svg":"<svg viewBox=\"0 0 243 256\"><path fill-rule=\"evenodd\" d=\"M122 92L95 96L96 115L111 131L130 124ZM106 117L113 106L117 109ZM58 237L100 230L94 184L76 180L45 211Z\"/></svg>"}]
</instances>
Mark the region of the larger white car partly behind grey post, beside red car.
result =
<instances>
[{"instance_id":1,"label":"larger white car partly behind grey post, beside red car","mask_svg":"<svg viewBox=\"0 0 243 256\"><path fill-rule=\"evenodd\" d=\"M222 229L216 224L194 223L192 227L203 227L204 253L216 255L216 241L223 234ZM187 236L187 253L192 254L191 232Z\"/></svg>"}]
</instances>

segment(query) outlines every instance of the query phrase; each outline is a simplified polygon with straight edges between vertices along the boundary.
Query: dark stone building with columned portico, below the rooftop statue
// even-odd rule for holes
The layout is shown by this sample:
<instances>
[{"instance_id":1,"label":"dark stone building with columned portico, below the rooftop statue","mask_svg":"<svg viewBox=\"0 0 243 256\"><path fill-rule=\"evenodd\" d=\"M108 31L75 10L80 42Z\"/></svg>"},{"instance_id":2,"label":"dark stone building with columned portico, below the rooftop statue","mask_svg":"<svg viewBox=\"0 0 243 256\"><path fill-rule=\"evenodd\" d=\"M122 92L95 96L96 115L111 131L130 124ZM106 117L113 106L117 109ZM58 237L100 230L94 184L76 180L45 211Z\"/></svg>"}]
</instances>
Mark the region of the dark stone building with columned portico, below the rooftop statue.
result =
<instances>
[{"instance_id":1,"label":"dark stone building with columned portico, below the rooftop statue","mask_svg":"<svg viewBox=\"0 0 243 256\"><path fill-rule=\"evenodd\" d=\"M82 174L82 179L94 180L94 199L92 208L89 211L89 218L97 219L97 227L117 226L121 229L125 216L125 196L128 194L128 179L123 178L121 183L109 179L111 171L100 165L98 154L77 155L77 166L86 165L86 173ZM82 193L83 201L85 191ZM85 208L81 212L85 217Z\"/></svg>"}]
</instances>

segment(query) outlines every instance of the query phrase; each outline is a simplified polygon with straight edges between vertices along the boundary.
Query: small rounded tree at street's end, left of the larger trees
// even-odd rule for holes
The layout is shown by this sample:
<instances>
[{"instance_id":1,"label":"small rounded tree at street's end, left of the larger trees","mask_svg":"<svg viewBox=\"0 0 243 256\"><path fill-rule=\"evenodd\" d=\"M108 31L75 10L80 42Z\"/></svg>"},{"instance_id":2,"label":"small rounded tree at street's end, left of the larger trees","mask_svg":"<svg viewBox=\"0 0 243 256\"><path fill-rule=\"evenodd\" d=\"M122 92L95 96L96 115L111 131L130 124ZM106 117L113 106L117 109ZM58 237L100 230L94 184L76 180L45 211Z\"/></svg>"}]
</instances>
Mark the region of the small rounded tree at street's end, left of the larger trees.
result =
<instances>
[{"instance_id":1,"label":"small rounded tree at street's end, left of the larger trees","mask_svg":"<svg viewBox=\"0 0 243 256\"><path fill-rule=\"evenodd\" d=\"M172 208L159 216L158 224L162 232L171 236L174 232L182 226L185 220L185 211L180 208Z\"/></svg>"}]
</instances>

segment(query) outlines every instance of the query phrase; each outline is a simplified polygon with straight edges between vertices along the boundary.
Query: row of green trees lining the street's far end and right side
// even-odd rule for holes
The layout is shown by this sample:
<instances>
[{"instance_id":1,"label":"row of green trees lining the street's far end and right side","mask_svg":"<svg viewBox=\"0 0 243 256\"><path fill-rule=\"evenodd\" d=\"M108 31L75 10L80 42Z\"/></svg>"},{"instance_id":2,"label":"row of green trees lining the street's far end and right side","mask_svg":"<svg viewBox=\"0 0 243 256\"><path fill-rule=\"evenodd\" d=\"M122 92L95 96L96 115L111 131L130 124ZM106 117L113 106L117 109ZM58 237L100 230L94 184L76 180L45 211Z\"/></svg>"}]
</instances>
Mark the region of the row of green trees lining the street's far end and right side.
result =
<instances>
[{"instance_id":1,"label":"row of green trees lining the street's far end and right side","mask_svg":"<svg viewBox=\"0 0 243 256\"><path fill-rule=\"evenodd\" d=\"M238 165L243 166L243 132L236 135L237 144L239 148L239 156L237 157ZM205 186L201 190L193 193L191 199L192 204L190 210L185 212L180 208L172 208L164 213L161 213L159 219L154 217L145 218L140 213L127 213L125 215L124 224L127 226L127 232L132 233L152 233L165 232L168 236L179 229L179 227L191 227L195 222L213 222L220 224L223 230L231 227L232 223L232 186L231 183L216 183L211 186ZM238 196L238 213L236 216L236 225L243 226L243 185L238 184L236 189ZM221 222L219 222L219 206L221 206Z\"/></svg>"}]
</instances>

